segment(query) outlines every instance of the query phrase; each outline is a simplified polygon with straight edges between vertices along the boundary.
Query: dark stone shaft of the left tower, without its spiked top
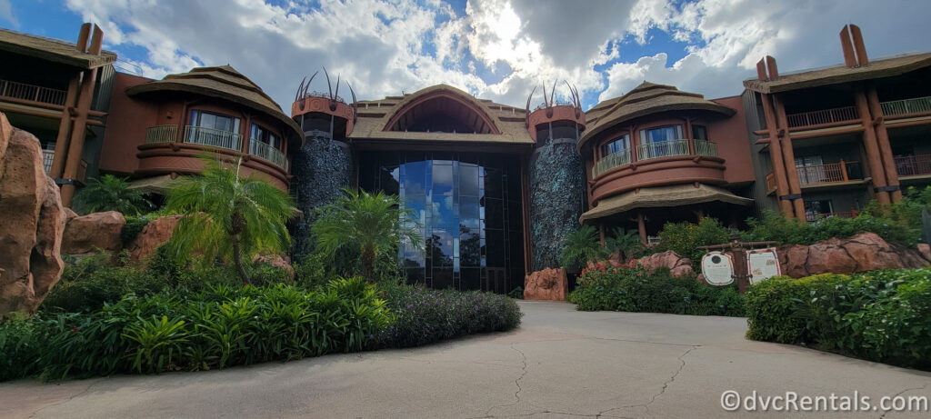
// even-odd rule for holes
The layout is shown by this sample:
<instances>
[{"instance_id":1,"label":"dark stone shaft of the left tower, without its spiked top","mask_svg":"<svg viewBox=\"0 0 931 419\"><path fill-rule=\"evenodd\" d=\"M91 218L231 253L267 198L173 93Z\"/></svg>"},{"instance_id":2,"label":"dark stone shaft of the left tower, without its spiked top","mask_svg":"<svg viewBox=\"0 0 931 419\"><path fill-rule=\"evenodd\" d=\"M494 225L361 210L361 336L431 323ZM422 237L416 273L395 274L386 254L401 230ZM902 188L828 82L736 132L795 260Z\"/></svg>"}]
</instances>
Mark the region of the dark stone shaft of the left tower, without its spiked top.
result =
<instances>
[{"instance_id":1,"label":"dark stone shaft of the left tower, without its spiked top","mask_svg":"<svg viewBox=\"0 0 931 419\"><path fill-rule=\"evenodd\" d=\"M309 237L310 226L316 220L314 210L332 203L342 194L342 188L352 185L352 152L344 142L309 136L294 155L291 173L297 209L304 212L304 217L291 229L291 241L294 254L304 255L311 250Z\"/></svg>"}]
</instances>

